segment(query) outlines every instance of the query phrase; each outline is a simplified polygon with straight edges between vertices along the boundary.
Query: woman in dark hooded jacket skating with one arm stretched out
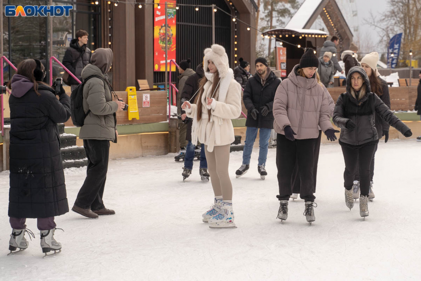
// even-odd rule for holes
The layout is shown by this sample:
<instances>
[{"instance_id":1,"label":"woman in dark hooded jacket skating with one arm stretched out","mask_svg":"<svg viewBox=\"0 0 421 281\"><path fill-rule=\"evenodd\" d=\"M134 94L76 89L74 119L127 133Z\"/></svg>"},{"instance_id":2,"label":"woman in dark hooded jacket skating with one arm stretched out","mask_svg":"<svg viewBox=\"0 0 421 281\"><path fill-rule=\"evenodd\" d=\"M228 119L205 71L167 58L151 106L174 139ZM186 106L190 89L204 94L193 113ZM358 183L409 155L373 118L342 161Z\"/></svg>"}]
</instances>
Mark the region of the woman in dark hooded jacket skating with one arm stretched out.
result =
<instances>
[{"instance_id":1,"label":"woman in dark hooded jacket skating with one arm stretched out","mask_svg":"<svg viewBox=\"0 0 421 281\"><path fill-rule=\"evenodd\" d=\"M333 113L333 123L341 128L339 144L345 160L345 203L350 210L354 207L352 186L359 166L360 216L367 217L370 163L379 138L375 113L405 137L410 137L412 132L377 95L371 93L367 73L362 67L354 66L350 69L346 85L346 93L339 96Z\"/></svg>"}]
</instances>

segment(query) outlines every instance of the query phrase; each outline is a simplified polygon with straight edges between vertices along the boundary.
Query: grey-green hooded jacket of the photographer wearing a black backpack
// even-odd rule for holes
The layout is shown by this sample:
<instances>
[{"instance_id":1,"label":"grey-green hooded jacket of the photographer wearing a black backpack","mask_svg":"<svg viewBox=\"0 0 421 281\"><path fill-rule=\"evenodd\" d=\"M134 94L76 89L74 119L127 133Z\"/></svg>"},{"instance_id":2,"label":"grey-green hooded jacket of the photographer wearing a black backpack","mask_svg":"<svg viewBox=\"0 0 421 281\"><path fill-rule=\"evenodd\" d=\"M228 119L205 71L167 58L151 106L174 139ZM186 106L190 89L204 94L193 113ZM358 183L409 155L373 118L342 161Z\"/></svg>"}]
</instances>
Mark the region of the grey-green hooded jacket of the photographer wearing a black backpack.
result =
<instances>
[{"instance_id":1,"label":"grey-green hooded jacket of the photographer wearing a black backpack","mask_svg":"<svg viewBox=\"0 0 421 281\"><path fill-rule=\"evenodd\" d=\"M107 73L112 64L111 49L97 49L92 55L92 64L88 64L82 71L82 79L98 75L107 79ZM89 79L83 87L83 110L90 112L80 128L81 139L109 140L116 142L115 134L117 119L117 103L112 101L108 84L99 79Z\"/></svg>"}]
</instances>

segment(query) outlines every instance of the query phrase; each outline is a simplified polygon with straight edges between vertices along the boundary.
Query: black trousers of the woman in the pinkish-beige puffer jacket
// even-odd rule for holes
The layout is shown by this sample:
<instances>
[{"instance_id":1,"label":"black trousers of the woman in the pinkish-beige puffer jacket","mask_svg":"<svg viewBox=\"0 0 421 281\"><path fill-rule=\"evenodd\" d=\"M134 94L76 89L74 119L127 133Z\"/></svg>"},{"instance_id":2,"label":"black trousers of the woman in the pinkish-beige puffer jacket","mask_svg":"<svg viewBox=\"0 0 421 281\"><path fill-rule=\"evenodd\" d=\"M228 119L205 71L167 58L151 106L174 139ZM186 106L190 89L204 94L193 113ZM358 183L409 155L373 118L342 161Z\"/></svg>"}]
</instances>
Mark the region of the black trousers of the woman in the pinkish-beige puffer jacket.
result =
<instances>
[{"instance_id":1,"label":"black trousers of the woman in the pinkish-beige puffer jacket","mask_svg":"<svg viewBox=\"0 0 421 281\"><path fill-rule=\"evenodd\" d=\"M292 194L291 177L295 165L301 181L300 197L314 202L314 158L317 139L290 141L284 135L276 137L276 167L278 169L279 200L289 200Z\"/></svg>"}]
</instances>

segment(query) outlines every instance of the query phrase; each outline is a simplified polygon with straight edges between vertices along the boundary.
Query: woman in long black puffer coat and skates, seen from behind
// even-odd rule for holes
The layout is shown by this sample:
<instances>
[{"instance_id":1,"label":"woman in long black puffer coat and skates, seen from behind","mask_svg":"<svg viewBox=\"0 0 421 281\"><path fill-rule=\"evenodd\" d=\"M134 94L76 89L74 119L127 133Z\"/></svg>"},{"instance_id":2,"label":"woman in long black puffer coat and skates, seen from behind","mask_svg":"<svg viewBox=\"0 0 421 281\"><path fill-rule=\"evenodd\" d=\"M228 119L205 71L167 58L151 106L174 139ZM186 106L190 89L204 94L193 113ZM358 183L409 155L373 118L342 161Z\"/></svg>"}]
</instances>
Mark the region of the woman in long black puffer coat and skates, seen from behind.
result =
<instances>
[{"instance_id":1,"label":"woman in long black puffer coat and skates, seen from behind","mask_svg":"<svg viewBox=\"0 0 421 281\"><path fill-rule=\"evenodd\" d=\"M43 252L59 250L61 244L53 237L54 217L69 211L57 123L69 119L70 98L62 87L55 93L41 82L44 77L44 65L26 59L9 82L11 252L28 247L25 232L33 233L26 229L27 218L38 219Z\"/></svg>"}]
</instances>

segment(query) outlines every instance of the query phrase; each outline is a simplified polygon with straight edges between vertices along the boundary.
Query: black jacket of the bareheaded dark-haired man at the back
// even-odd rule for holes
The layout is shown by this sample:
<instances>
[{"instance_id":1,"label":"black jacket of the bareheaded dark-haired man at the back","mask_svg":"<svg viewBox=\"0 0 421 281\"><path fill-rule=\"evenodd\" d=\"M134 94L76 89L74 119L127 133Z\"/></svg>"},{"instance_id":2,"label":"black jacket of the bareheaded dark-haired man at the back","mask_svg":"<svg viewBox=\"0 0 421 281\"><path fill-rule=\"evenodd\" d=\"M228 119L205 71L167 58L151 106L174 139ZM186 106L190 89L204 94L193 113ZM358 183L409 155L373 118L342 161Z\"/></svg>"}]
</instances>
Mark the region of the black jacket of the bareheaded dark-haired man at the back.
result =
<instances>
[{"instance_id":1,"label":"black jacket of the bareheaded dark-haired man at the back","mask_svg":"<svg viewBox=\"0 0 421 281\"><path fill-rule=\"evenodd\" d=\"M82 81L82 69L91 62L91 50L86 44L80 47L77 38L72 39L72 41L70 41L70 47L67 48L62 62L71 73ZM69 79L71 85L79 84L71 76Z\"/></svg>"}]
</instances>

